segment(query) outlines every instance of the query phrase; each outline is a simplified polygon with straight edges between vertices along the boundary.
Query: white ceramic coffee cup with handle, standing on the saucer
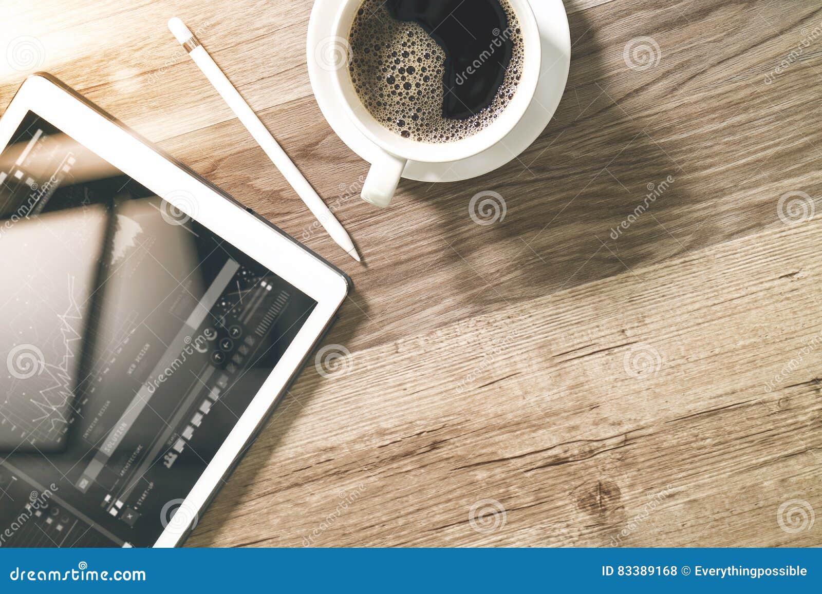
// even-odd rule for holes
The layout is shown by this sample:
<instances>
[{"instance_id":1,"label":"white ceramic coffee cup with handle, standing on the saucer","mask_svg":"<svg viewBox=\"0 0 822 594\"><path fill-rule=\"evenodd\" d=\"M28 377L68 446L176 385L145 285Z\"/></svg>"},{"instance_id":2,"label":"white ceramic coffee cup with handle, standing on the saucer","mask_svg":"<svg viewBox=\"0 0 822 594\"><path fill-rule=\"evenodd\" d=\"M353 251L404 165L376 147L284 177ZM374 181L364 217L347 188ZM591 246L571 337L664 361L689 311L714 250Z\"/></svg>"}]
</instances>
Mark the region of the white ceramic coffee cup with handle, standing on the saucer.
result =
<instances>
[{"instance_id":1,"label":"white ceramic coffee cup with handle, standing on the saucer","mask_svg":"<svg viewBox=\"0 0 822 594\"><path fill-rule=\"evenodd\" d=\"M508 0L508 2L520 21L521 38L524 44L524 63L520 81L514 97L502 113L473 136L438 144L399 136L383 127L371 113L368 113L353 88L347 64L333 69L331 77L334 84L330 90L324 89L322 92L334 94L335 102L343 107L344 113L353 125L381 149L379 158L373 160L363 183L363 191L360 194L363 200L376 206L389 205L399 178L402 177L405 164L409 161L449 163L467 159L501 142L523 117L533 99L534 90L537 88L542 48L537 21L528 0ZM346 40L349 39L354 16L362 3L362 0L342 0L340 2L333 27L333 39L339 40L340 44L347 44ZM347 53L344 50L342 55ZM316 89L315 92L317 92Z\"/></svg>"}]
</instances>

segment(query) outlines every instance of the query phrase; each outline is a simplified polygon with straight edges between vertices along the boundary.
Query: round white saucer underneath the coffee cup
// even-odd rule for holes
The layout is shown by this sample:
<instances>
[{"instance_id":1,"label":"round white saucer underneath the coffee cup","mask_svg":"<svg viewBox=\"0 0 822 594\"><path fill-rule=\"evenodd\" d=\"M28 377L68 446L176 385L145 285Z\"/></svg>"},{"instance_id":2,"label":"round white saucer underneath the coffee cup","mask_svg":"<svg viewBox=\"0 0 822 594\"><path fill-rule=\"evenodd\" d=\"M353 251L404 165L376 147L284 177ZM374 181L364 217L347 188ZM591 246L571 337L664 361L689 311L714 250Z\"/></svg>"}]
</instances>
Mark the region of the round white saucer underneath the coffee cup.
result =
<instances>
[{"instance_id":1,"label":"round white saucer underneath the coffee cup","mask_svg":"<svg viewBox=\"0 0 822 594\"><path fill-rule=\"evenodd\" d=\"M568 81L570 67L570 30L568 16L561 0L536 0L531 2L533 16L537 19L543 46L543 71L539 76L534 99L517 125L501 142L468 159L451 163L421 163L409 161L403 177L420 182L457 182L469 177L488 173L514 159L527 149L545 129L559 105ZM321 39L333 35L334 17L339 0L316 0L308 21L308 76L312 88L330 88L333 83L330 71L324 70L313 59L313 49ZM314 94L320 111L331 128L349 148L360 157L373 163L382 153L371 140L353 125L339 104L330 100L330 94Z\"/></svg>"}]
</instances>

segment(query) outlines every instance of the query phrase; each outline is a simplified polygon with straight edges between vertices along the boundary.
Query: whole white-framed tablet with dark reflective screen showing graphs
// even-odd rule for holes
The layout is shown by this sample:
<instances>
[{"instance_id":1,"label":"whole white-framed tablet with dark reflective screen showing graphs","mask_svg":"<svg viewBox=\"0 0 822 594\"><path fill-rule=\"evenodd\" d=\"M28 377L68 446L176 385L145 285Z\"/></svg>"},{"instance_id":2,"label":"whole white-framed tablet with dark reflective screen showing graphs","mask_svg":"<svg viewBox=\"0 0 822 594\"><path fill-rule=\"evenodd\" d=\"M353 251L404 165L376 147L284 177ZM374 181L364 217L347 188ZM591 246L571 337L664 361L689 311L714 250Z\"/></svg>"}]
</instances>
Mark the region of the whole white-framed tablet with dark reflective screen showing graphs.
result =
<instances>
[{"instance_id":1,"label":"whole white-framed tablet with dark reflective screen showing graphs","mask_svg":"<svg viewBox=\"0 0 822 594\"><path fill-rule=\"evenodd\" d=\"M349 279L48 75L0 119L0 546L175 546Z\"/></svg>"}]
</instances>

